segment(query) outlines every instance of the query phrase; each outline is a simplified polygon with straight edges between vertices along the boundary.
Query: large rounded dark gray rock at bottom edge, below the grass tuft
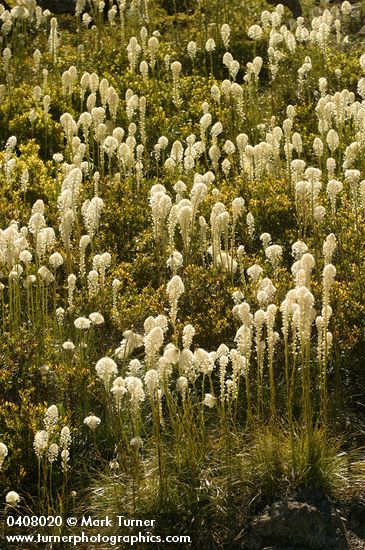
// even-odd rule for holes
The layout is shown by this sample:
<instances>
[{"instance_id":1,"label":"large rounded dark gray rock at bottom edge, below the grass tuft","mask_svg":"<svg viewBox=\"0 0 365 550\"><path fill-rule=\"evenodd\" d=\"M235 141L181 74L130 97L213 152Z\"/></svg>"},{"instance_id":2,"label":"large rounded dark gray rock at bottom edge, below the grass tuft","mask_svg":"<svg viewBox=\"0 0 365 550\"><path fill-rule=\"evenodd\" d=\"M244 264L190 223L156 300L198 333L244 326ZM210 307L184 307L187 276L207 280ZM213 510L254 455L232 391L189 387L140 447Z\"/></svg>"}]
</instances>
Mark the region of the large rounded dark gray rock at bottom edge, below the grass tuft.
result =
<instances>
[{"instance_id":1,"label":"large rounded dark gray rock at bottom edge, below the grass tuft","mask_svg":"<svg viewBox=\"0 0 365 550\"><path fill-rule=\"evenodd\" d=\"M347 550L345 529L328 499L319 504L282 500L265 508L249 526L246 550Z\"/></svg>"}]
</instances>

